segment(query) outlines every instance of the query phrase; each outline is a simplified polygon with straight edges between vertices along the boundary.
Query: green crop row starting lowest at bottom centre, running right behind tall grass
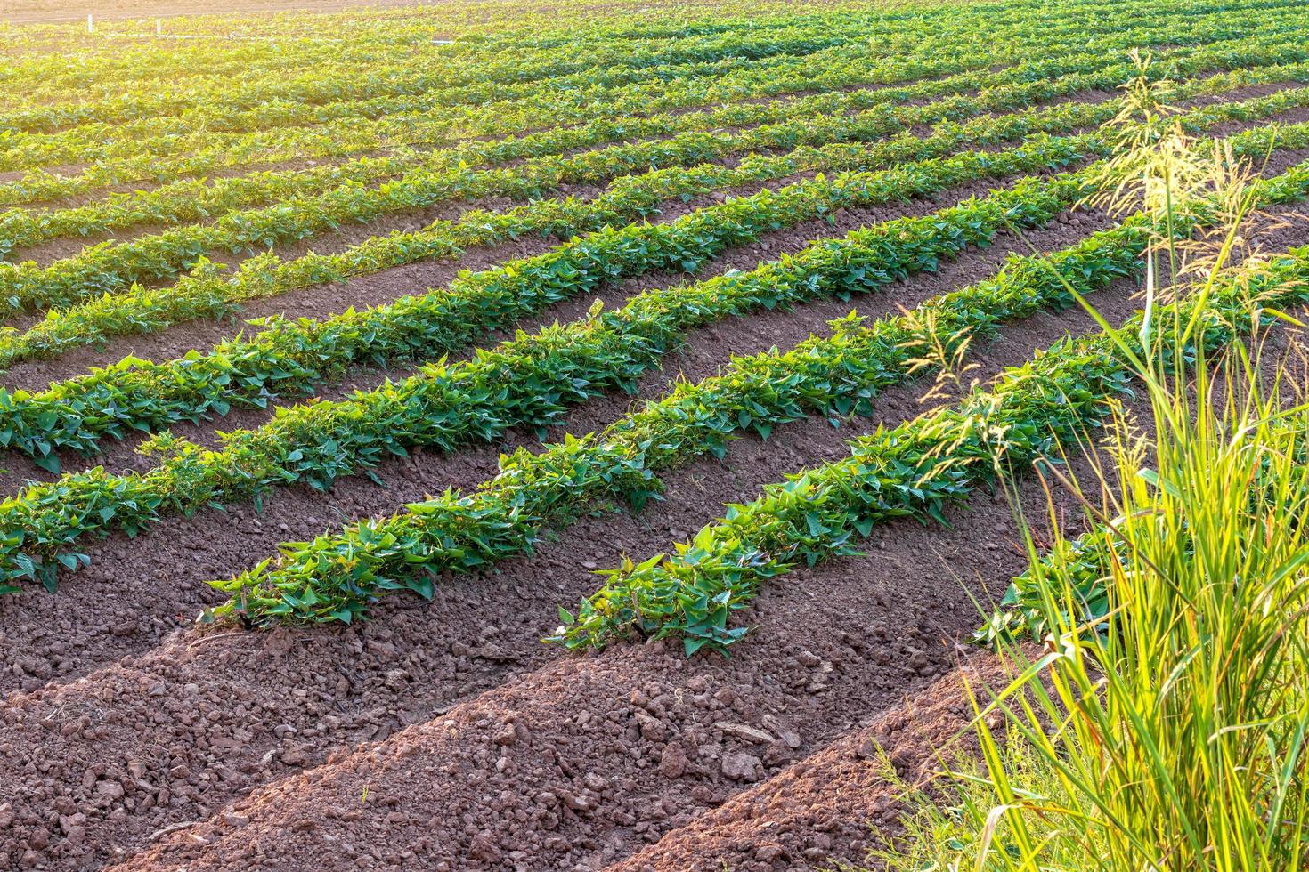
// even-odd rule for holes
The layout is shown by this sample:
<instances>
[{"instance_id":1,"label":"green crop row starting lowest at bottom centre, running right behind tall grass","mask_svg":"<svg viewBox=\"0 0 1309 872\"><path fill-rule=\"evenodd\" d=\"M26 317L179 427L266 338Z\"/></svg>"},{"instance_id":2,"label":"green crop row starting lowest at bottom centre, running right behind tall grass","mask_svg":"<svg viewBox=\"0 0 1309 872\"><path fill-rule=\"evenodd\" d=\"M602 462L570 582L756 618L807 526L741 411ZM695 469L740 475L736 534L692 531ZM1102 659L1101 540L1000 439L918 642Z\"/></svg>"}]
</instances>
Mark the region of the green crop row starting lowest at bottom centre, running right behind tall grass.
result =
<instances>
[{"instance_id":1,"label":"green crop row starting lowest at bottom centre, running right behind tall grass","mask_svg":"<svg viewBox=\"0 0 1309 872\"><path fill-rule=\"evenodd\" d=\"M1249 273L1204 297L1158 307L1161 323L1198 322L1169 366L1271 320L1262 306L1309 301L1309 248L1293 250L1254 275L1258 307L1251 305ZM565 614L552 641L592 647L635 633L682 638L687 652L725 648L747 629L733 626L732 613L770 578L796 565L859 553L859 540L878 523L945 523L948 506L994 484L997 475L1058 459L1060 446L1103 422L1106 400L1131 391L1135 361L1121 345L1141 353L1141 322L1138 314L1117 335L1060 340L958 407L880 429L856 439L848 458L770 485L750 503L729 506L674 556L627 561L605 573L601 590L583 600L576 616Z\"/></svg>"}]
</instances>

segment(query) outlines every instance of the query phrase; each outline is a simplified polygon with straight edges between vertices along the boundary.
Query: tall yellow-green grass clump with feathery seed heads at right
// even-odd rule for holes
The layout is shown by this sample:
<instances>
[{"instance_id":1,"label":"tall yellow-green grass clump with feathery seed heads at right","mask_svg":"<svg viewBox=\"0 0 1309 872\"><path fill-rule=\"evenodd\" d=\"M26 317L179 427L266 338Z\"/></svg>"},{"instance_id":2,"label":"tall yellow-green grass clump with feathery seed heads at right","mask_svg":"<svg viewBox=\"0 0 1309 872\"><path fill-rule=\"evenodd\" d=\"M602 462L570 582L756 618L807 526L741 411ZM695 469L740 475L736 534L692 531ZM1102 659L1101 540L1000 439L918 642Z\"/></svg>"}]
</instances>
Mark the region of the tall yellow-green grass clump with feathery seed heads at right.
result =
<instances>
[{"instance_id":1,"label":"tall yellow-green grass clump with feathery seed heads at right","mask_svg":"<svg viewBox=\"0 0 1309 872\"><path fill-rule=\"evenodd\" d=\"M1304 361L1275 360L1276 331L1217 360L1198 350L1203 301L1257 263L1233 256L1251 174L1172 128L1157 89L1128 93L1155 133L1123 144L1101 203L1144 205L1161 227L1145 316L1115 333L1148 411L1117 409L1083 481L1045 467L1086 532L1073 539L1054 499L1051 548L1024 524L1024 633L982 634L1016 677L973 689L980 753L918 795L885 867L1309 868ZM1192 207L1224 210L1207 246L1178 242ZM1200 305L1158 305L1183 294ZM1295 323L1254 290L1247 305L1255 324Z\"/></svg>"}]
</instances>

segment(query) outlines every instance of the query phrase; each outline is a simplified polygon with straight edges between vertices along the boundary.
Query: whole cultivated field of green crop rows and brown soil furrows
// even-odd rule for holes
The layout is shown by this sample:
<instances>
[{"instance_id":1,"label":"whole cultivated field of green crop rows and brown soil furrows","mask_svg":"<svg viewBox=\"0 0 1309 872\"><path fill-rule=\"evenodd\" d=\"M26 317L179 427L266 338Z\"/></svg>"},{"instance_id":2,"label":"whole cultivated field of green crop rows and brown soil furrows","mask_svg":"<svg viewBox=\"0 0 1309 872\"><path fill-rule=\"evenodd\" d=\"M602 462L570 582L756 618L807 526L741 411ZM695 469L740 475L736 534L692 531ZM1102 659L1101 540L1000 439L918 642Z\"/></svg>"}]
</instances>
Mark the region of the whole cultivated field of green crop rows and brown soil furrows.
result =
<instances>
[{"instance_id":1,"label":"whole cultivated field of green crop rows and brown soil furrows","mask_svg":"<svg viewBox=\"0 0 1309 872\"><path fill-rule=\"evenodd\" d=\"M156 26L0 25L0 869L863 862L997 673L996 434L1131 388L1131 50L1309 298L1288 0Z\"/></svg>"}]
</instances>

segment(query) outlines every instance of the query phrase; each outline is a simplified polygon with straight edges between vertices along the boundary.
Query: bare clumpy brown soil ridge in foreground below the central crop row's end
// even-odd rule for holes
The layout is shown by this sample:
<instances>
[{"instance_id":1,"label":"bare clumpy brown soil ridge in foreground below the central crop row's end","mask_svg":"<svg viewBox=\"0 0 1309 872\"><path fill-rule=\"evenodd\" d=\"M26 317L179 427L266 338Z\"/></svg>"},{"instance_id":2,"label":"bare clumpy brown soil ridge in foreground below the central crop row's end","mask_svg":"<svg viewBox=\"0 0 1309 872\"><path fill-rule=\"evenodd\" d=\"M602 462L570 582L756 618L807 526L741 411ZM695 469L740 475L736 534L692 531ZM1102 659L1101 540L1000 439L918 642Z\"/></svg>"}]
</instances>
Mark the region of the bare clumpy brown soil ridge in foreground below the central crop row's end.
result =
<instances>
[{"instance_id":1,"label":"bare clumpy brown soil ridge in foreground below the central crop row's end","mask_svg":"<svg viewBox=\"0 0 1309 872\"><path fill-rule=\"evenodd\" d=\"M554 656L260 788L123 868L622 860L953 668L978 621L970 597L999 595L1022 558L1003 499L975 499L952 520L949 531L890 524L867 557L779 582L740 616L754 633L732 660L687 660L662 643Z\"/></svg>"}]
</instances>

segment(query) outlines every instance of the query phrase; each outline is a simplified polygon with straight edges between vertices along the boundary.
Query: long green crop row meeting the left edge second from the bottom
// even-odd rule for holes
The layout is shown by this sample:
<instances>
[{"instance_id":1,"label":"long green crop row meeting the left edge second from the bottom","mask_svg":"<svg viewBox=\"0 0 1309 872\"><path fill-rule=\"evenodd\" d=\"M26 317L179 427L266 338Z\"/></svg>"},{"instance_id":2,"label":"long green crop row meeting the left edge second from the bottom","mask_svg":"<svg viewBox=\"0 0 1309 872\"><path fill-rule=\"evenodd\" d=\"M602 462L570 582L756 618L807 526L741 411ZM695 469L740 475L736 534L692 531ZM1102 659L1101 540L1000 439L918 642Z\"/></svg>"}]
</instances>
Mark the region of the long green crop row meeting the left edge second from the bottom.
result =
<instances>
[{"instance_id":1,"label":"long green crop row meeting the left edge second from the bottom","mask_svg":"<svg viewBox=\"0 0 1309 872\"><path fill-rule=\"evenodd\" d=\"M1272 95L1244 106L1198 110L1191 120L1195 123L1203 116L1204 124L1212 124L1224 118L1275 112L1280 106L1280 98ZM1069 127L1084 123L1090 114L1105 120L1115 109L1113 103L1064 107L1046 118ZM1035 116L1039 115L1022 112L971 126L1014 139L1033 129L1049 129L1039 124L1033 128ZM969 132L969 127L942 135L945 143L953 148L963 141L992 141L990 136ZM1285 139L1296 141L1295 137L1292 132ZM908 143L919 148L925 140L908 137ZM1046 148L1047 153L1067 159L1088 144L1092 149L1105 148L1088 137L1068 144L1056 141ZM325 322L274 320L262 333L221 343L208 354L192 352L166 363L130 358L88 377L52 384L39 394L0 392L0 444L58 469L56 448L89 452L105 435L120 438L131 430L196 420L211 411L221 414L233 403L262 407L276 392L306 390L360 361L429 357L457 350L482 331L511 324L550 302L586 293L605 281L648 269L685 268L764 229L850 205L846 190L857 192L856 201L885 201L889 196L929 193L978 174L994 176L1007 166L1021 167L1031 161L1020 157L1016 163L996 163L1003 157L969 153L910 165L912 173L905 167L881 174L863 173L852 179L839 176L833 183L826 179L801 182L778 192L729 200L666 225L601 231L546 255L465 275L449 289L404 298L390 306L351 311Z\"/></svg>"}]
</instances>

